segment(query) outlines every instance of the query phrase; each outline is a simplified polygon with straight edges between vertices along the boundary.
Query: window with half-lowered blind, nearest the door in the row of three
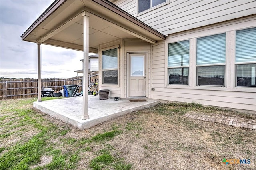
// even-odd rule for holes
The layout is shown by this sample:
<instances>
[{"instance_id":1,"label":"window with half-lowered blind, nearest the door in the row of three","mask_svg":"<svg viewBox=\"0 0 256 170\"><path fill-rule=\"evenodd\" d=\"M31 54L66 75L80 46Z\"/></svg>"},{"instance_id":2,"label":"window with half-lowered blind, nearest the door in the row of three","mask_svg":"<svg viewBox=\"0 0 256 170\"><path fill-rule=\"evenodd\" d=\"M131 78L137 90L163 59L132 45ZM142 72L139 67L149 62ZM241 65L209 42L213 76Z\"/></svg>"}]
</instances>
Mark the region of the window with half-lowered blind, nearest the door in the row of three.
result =
<instances>
[{"instance_id":1,"label":"window with half-lowered blind, nearest the door in the row of three","mask_svg":"<svg viewBox=\"0 0 256 170\"><path fill-rule=\"evenodd\" d=\"M189 40L168 44L168 84L188 85Z\"/></svg>"}]
</instances>

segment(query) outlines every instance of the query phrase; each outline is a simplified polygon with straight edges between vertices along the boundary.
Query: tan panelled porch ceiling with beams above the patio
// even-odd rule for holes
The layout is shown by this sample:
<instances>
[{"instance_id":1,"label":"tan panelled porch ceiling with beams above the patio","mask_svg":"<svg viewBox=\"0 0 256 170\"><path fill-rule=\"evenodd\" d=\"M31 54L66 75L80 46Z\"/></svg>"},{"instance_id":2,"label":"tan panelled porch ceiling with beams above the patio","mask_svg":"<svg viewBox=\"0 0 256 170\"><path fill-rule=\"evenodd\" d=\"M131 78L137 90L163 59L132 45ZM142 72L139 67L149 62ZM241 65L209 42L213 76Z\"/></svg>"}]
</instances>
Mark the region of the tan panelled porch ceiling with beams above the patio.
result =
<instances>
[{"instance_id":1,"label":"tan panelled porch ceiling with beams above the patio","mask_svg":"<svg viewBox=\"0 0 256 170\"><path fill-rule=\"evenodd\" d=\"M89 51L119 38L140 38L150 43L165 36L108 1L55 1L21 36L22 40L83 50L83 16L89 17Z\"/></svg>"}]
</instances>

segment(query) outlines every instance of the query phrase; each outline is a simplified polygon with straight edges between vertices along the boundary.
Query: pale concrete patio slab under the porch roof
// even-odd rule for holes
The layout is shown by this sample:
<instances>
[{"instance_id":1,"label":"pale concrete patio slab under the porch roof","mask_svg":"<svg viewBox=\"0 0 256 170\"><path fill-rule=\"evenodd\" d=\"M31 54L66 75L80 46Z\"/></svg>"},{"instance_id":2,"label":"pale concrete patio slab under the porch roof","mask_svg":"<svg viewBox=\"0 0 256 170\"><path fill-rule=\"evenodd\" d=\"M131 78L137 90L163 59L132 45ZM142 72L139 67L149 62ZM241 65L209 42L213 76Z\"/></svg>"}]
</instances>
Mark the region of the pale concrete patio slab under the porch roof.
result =
<instances>
[{"instance_id":1,"label":"pale concrete patio slab under the porch roof","mask_svg":"<svg viewBox=\"0 0 256 170\"><path fill-rule=\"evenodd\" d=\"M82 99L82 96L55 99L34 102L33 106L61 121L80 129L86 129L109 119L151 107L159 103L159 101L152 99L146 99L147 101L144 102L130 102L129 99L119 99L118 101L114 101L113 98L99 100L99 95L90 95L88 96L89 119L82 120Z\"/></svg>"}]
</instances>

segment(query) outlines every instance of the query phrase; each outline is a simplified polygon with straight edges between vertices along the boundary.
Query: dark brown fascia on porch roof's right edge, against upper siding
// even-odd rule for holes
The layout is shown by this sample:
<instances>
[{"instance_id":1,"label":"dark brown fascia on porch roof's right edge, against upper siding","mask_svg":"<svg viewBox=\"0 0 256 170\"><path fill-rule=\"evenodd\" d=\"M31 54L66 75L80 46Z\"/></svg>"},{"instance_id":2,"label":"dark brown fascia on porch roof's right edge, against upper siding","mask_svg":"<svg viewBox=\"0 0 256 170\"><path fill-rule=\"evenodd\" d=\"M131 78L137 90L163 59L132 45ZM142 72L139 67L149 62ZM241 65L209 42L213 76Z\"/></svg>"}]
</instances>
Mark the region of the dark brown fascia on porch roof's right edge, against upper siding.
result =
<instances>
[{"instance_id":1,"label":"dark brown fascia on porch roof's right edge, against upper siding","mask_svg":"<svg viewBox=\"0 0 256 170\"><path fill-rule=\"evenodd\" d=\"M135 18L134 16L132 16L131 14L129 14L128 12L122 10L121 8L119 8L118 6L116 6L115 4L113 4L112 2L108 1L108 0L92 0L93 2L96 2L97 4L100 4L101 6L104 6L105 8L108 8L109 10L111 10L112 12L115 12L116 14L126 18L127 20L130 20L131 22L133 22L134 24L144 28L145 30L151 32L152 34L155 34L156 36L166 40L166 36L161 34L160 32L158 32L157 30L151 28L150 26L148 26L147 24L145 24L144 22L138 20L137 18Z\"/></svg>"}]
</instances>

